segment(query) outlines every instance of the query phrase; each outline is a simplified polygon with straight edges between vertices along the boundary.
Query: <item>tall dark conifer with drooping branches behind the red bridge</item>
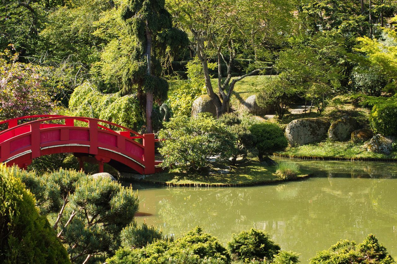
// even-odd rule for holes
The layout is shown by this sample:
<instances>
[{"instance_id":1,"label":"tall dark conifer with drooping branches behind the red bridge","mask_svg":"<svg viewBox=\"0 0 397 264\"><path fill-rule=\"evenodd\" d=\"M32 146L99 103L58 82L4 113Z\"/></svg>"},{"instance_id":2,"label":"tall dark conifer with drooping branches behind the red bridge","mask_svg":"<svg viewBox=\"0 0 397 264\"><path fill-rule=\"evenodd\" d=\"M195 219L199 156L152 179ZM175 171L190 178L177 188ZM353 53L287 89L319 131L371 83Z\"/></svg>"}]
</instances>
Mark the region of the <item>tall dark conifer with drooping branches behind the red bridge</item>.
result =
<instances>
[{"instance_id":1,"label":"tall dark conifer with drooping branches behind the red bridge","mask_svg":"<svg viewBox=\"0 0 397 264\"><path fill-rule=\"evenodd\" d=\"M121 12L128 33L135 39L131 67L123 75L124 90L137 92L144 104L146 128L152 133L153 101L164 100L168 82L161 78L161 61L167 52L176 52L188 43L186 34L172 26L172 17L164 8L165 0L129 0Z\"/></svg>"}]
</instances>

